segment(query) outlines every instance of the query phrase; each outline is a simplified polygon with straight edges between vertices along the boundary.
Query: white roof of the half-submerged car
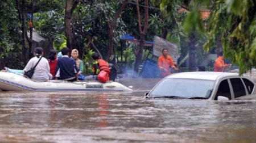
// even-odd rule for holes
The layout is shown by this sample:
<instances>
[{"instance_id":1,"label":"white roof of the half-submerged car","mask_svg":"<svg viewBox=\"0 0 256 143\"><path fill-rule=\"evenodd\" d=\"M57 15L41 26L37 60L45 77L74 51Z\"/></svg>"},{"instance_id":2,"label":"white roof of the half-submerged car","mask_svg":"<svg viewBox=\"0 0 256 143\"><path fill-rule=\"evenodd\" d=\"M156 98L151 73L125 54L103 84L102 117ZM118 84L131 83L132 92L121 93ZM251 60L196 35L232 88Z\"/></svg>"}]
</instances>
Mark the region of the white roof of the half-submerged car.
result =
<instances>
[{"instance_id":1,"label":"white roof of the half-submerged car","mask_svg":"<svg viewBox=\"0 0 256 143\"><path fill-rule=\"evenodd\" d=\"M205 79L216 81L221 77L239 77L237 73L224 73L224 72L184 72L168 75L166 78L191 78L191 79Z\"/></svg>"}]
</instances>

